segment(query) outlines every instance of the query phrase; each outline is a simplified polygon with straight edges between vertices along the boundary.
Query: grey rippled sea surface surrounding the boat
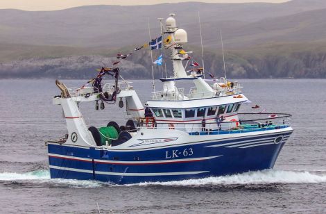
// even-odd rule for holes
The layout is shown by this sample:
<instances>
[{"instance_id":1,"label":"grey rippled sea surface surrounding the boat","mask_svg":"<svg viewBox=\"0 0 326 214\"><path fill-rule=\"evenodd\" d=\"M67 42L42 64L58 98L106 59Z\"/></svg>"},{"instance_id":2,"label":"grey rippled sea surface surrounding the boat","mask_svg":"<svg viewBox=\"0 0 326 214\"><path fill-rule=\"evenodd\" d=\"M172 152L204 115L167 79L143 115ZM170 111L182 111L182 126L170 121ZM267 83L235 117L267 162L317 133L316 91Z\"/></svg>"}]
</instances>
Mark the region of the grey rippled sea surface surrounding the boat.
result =
<instances>
[{"instance_id":1,"label":"grey rippled sea surface surrounding the boat","mask_svg":"<svg viewBox=\"0 0 326 214\"><path fill-rule=\"evenodd\" d=\"M257 104L293 115L295 131L274 170L116 186L49 179L44 141L66 133L60 106L51 104L60 91L54 80L0 80L0 213L326 213L326 80L240 83L252 101L242 112ZM145 102L151 81L133 85ZM90 125L126 122L117 105L80 108Z\"/></svg>"}]
</instances>

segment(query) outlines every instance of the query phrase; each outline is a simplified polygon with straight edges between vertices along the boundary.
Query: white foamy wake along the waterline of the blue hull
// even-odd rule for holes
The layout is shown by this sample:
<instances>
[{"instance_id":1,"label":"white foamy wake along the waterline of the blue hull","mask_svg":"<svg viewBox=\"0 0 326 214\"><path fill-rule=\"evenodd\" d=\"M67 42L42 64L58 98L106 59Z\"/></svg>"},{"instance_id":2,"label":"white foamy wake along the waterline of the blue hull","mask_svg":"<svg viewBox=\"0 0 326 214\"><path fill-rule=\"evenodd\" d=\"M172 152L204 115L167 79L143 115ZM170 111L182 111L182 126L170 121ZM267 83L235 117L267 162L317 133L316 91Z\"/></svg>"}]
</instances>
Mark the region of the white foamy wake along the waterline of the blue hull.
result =
<instances>
[{"instance_id":1,"label":"white foamy wake along the waterline of the blue hull","mask_svg":"<svg viewBox=\"0 0 326 214\"><path fill-rule=\"evenodd\" d=\"M2 172L0 181L33 181L54 185L67 185L80 188L98 188L101 186L119 186L99 181L80 181L73 179L50 179L49 170L37 170L26 173ZM229 176L209 177L169 182L144 182L125 186L207 186L207 185L259 185L271 183L326 183L326 172L264 170L246 172Z\"/></svg>"}]
</instances>

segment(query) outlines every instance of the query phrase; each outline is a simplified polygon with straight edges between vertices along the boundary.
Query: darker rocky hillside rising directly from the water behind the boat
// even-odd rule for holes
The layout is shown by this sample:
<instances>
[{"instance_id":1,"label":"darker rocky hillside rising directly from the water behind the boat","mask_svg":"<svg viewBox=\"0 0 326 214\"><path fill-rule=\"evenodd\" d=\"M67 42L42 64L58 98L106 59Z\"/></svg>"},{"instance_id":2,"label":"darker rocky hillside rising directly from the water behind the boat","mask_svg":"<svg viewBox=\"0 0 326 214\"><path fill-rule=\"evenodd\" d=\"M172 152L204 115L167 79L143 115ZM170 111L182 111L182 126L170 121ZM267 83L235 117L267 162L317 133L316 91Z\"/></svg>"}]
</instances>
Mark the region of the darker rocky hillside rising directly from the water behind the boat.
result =
<instances>
[{"instance_id":1,"label":"darker rocky hillside rising directly from the water behind the boat","mask_svg":"<svg viewBox=\"0 0 326 214\"><path fill-rule=\"evenodd\" d=\"M85 49L76 47L42 47L1 44L0 78L77 78L87 79L95 69L112 65L122 49ZM185 47L201 64L200 48ZM205 48L205 70L223 75L221 47ZM160 54L153 51L154 58ZM168 74L171 75L169 53L163 51ZM18 60L17 60L18 59ZM265 44L243 49L225 49L225 61L230 78L326 78L326 42ZM148 50L134 53L119 67L124 77L151 78L151 57ZM189 68L189 67L188 67ZM155 76L162 77L162 67L155 67Z\"/></svg>"}]
</instances>

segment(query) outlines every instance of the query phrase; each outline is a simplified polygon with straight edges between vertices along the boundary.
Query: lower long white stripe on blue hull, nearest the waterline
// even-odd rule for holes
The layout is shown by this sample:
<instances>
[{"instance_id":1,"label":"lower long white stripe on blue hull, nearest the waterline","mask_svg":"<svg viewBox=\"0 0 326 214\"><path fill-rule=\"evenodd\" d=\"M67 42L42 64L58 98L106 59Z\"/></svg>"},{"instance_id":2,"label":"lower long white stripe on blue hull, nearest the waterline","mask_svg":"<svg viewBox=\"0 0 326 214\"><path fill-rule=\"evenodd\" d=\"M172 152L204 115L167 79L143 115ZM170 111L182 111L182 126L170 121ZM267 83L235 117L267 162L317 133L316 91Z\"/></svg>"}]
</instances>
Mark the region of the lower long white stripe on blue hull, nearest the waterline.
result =
<instances>
[{"instance_id":1,"label":"lower long white stripe on blue hull, nearest the waterline","mask_svg":"<svg viewBox=\"0 0 326 214\"><path fill-rule=\"evenodd\" d=\"M92 170L81 170L76 168L68 167L58 167L55 165L49 165L51 169L55 170L67 170L72 172L84 172L93 174ZM209 171L197 171L197 172L153 172L153 173L124 173L124 172L103 172L103 171L94 171L95 174L104 174L104 175L117 175L117 176L169 176L169 175L187 175L187 174L201 174Z\"/></svg>"}]
</instances>

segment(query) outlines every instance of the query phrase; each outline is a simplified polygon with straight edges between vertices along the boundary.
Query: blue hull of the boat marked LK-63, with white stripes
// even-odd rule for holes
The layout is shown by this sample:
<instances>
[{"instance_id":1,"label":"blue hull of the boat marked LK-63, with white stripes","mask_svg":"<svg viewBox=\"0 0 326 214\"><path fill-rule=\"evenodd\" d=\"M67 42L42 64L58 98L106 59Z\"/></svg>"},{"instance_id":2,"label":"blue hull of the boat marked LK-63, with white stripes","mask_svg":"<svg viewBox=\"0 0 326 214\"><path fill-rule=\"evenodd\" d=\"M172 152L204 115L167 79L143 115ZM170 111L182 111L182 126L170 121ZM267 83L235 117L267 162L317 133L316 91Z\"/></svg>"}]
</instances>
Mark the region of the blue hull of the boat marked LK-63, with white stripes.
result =
<instances>
[{"instance_id":1,"label":"blue hull of the boat marked LK-63, with white stripes","mask_svg":"<svg viewBox=\"0 0 326 214\"><path fill-rule=\"evenodd\" d=\"M273 168L291 133L128 151L49 144L49 167L52 179L94 179L119 184L237 174ZM282 140L277 142L277 138Z\"/></svg>"}]
</instances>

